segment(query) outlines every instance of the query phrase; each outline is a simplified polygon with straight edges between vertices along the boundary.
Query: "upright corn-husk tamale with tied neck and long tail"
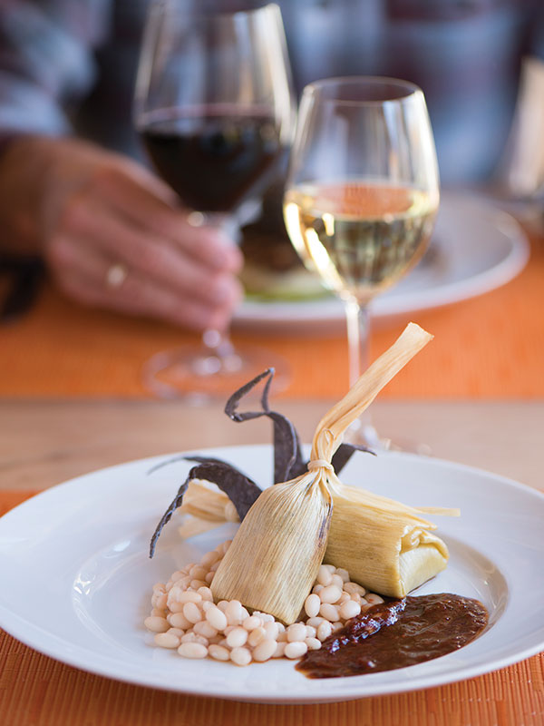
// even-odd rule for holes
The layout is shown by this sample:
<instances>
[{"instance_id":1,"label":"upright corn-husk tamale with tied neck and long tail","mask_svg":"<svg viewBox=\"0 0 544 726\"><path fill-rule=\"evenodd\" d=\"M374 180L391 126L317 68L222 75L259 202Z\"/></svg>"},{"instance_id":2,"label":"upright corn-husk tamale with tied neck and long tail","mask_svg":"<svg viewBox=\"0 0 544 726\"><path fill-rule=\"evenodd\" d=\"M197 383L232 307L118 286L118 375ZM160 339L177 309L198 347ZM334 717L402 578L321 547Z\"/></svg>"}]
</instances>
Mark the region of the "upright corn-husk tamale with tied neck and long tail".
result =
<instances>
[{"instance_id":1,"label":"upright corn-husk tamale with tied neck and long tail","mask_svg":"<svg viewBox=\"0 0 544 726\"><path fill-rule=\"evenodd\" d=\"M239 600L284 623L296 621L325 555L333 495L343 490L332 456L345 429L431 339L410 323L321 419L306 474L269 487L249 509L211 584L216 601Z\"/></svg>"}]
</instances>

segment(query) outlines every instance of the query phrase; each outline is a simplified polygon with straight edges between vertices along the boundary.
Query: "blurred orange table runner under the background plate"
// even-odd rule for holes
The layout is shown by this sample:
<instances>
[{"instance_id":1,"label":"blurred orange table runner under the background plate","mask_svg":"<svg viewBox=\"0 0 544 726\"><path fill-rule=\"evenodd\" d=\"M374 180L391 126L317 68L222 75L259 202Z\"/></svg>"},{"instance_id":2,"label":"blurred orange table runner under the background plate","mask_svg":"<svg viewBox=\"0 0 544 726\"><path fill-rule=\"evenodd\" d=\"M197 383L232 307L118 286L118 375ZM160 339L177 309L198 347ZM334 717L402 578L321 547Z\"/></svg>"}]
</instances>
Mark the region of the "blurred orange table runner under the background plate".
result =
<instances>
[{"instance_id":1,"label":"blurred orange table runner under the background plate","mask_svg":"<svg viewBox=\"0 0 544 726\"><path fill-rule=\"evenodd\" d=\"M479 298L413 316L432 345L384 397L520 398L544 395L544 239L533 236L516 280ZM407 320L375 331L373 358ZM140 397L142 363L188 335L171 326L83 309L47 287L24 319L0 328L0 396ZM197 338L194 338L195 340ZM341 397L347 388L345 327L336 336L236 335L287 358L287 396Z\"/></svg>"}]
</instances>

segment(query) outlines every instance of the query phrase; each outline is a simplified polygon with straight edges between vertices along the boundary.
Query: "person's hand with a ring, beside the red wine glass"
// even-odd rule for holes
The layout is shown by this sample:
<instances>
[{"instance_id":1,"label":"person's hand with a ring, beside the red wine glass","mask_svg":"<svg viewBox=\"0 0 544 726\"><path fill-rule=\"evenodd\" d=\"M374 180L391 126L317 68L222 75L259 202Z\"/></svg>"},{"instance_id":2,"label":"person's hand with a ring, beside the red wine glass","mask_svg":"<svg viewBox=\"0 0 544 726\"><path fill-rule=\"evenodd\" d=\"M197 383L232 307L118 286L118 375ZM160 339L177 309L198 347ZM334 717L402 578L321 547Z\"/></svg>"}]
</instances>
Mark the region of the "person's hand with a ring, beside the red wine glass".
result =
<instances>
[{"instance_id":1,"label":"person's hand with a ring, beside the red wine glass","mask_svg":"<svg viewBox=\"0 0 544 726\"><path fill-rule=\"evenodd\" d=\"M188 220L151 172L91 144L21 138L0 163L0 226L11 249L43 250L71 298L222 329L240 297L241 255L221 231Z\"/></svg>"}]
</instances>

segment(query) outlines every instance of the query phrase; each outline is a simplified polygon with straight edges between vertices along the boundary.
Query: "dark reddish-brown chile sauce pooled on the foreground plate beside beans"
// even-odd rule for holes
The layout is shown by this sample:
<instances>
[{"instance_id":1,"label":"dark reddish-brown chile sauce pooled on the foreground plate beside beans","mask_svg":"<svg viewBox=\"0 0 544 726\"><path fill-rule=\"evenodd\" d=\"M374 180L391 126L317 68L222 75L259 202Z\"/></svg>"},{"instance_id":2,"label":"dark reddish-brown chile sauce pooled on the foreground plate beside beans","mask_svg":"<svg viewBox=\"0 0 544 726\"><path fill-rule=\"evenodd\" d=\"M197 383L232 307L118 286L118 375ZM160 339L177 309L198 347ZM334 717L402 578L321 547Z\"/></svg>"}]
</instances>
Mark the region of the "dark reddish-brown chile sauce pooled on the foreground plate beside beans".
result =
<instances>
[{"instance_id":1,"label":"dark reddish-brown chile sauce pooled on the foreground plate beside beans","mask_svg":"<svg viewBox=\"0 0 544 726\"><path fill-rule=\"evenodd\" d=\"M460 595L389 600L349 620L318 651L307 652L296 669L308 678L393 671L461 648L487 623L485 607Z\"/></svg>"}]
</instances>

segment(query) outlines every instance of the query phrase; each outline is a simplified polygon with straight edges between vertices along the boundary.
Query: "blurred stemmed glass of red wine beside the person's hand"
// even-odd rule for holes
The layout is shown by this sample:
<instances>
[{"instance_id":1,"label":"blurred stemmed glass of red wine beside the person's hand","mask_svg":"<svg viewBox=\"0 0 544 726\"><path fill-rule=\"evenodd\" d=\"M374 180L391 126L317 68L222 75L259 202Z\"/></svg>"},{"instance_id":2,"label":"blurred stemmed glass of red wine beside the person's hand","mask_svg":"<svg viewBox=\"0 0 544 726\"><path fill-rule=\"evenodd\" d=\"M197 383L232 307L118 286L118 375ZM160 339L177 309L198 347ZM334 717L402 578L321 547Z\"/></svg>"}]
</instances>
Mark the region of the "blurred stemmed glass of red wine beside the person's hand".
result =
<instances>
[{"instance_id":1,"label":"blurred stemmed glass of red wine beside the person's hand","mask_svg":"<svg viewBox=\"0 0 544 726\"><path fill-rule=\"evenodd\" d=\"M221 227L236 239L240 207L258 201L287 156L295 103L277 5L228 13L209 5L151 5L134 121L189 223ZM227 330L206 330L200 347L153 356L144 377L160 397L199 399L226 395L269 366L281 378L285 364L267 351L235 349Z\"/></svg>"}]
</instances>

